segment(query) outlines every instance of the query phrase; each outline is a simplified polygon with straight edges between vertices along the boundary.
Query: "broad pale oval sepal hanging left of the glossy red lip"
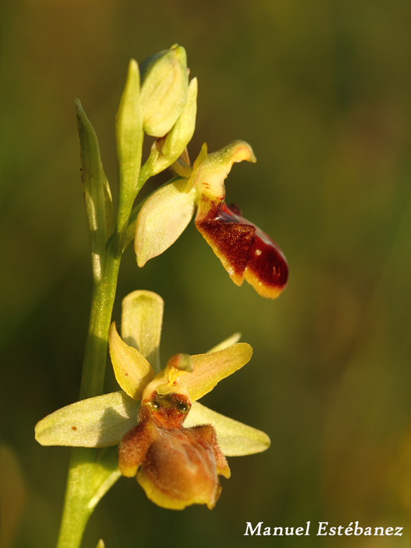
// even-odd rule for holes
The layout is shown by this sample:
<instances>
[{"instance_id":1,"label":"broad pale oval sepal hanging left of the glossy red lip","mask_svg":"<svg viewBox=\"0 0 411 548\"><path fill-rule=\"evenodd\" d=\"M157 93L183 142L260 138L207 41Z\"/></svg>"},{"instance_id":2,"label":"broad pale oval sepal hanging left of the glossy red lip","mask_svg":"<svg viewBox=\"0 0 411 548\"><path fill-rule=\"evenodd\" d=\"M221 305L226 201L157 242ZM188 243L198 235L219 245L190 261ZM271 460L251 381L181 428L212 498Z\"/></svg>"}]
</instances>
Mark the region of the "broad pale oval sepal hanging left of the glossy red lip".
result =
<instances>
[{"instance_id":1,"label":"broad pale oval sepal hanging left of the glossy red lip","mask_svg":"<svg viewBox=\"0 0 411 548\"><path fill-rule=\"evenodd\" d=\"M142 206L134 242L138 266L166 251L190 222L195 195L186 194L186 183L179 179L163 186Z\"/></svg>"}]
</instances>

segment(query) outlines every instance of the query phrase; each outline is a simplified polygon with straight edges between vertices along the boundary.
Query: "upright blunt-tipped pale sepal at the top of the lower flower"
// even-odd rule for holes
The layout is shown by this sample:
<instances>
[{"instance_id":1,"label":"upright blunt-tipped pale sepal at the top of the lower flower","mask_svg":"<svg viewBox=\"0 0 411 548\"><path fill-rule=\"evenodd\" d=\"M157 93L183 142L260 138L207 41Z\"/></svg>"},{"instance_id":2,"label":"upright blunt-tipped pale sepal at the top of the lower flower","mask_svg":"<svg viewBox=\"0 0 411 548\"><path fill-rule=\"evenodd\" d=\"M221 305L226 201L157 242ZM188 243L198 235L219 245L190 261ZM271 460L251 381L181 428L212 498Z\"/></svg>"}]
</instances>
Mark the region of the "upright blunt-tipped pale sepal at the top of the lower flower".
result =
<instances>
[{"instance_id":1,"label":"upright blunt-tipped pale sepal at the top of the lower flower","mask_svg":"<svg viewBox=\"0 0 411 548\"><path fill-rule=\"evenodd\" d=\"M164 301L153 291L138 290L123 299L121 338L160 371L160 337Z\"/></svg>"}]
</instances>

